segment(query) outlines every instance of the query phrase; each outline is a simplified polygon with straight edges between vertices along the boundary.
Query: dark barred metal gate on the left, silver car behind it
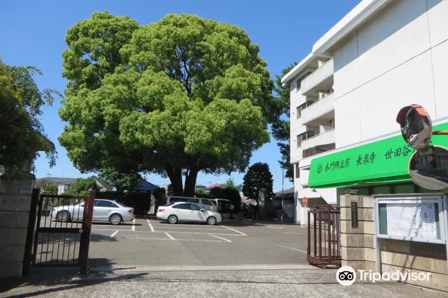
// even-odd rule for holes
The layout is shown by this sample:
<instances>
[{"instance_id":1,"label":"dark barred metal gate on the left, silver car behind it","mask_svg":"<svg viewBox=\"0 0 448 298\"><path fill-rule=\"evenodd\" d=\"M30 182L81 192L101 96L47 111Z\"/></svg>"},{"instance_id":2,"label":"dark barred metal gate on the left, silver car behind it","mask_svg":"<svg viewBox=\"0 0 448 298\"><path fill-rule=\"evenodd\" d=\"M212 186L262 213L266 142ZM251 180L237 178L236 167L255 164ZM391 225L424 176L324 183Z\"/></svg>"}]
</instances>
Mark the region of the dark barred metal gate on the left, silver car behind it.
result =
<instances>
[{"instance_id":1,"label":"dark barred metal gate on the left, silver car behind it","mask_svg":"<svg viewBox=\"0 0 448 298\"><path fill-rule=\"evenodd\" d=\"M80 266L87 273L95 191L89 196L40 194L32 266Z\"/></svg>"}]
</instances>

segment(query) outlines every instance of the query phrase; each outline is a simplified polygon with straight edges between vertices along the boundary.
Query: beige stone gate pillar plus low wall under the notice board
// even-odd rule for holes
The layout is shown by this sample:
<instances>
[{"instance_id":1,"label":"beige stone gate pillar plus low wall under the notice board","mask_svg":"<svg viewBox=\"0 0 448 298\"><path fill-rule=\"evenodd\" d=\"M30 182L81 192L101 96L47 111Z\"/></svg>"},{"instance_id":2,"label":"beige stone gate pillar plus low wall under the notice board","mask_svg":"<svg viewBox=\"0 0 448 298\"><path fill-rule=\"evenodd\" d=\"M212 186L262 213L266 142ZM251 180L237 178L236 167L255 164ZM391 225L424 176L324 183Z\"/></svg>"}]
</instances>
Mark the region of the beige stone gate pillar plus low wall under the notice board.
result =
<instances>
[{"instance_id":1,"label":"beige stone gate pillar plus low wall under the notice board","mask_svg":"<svg viewBox=\"0 0 448 298\"><path fill-rule=\"evenodd\" d=\"M358 203L358 227L351 227L351 202ZM374 198L340 196L342 266L376 272ZM431 272L429 281L404 281L415 286L448 292L445 244L379 238L381 273Z\"/></svg>"}]
</instances>

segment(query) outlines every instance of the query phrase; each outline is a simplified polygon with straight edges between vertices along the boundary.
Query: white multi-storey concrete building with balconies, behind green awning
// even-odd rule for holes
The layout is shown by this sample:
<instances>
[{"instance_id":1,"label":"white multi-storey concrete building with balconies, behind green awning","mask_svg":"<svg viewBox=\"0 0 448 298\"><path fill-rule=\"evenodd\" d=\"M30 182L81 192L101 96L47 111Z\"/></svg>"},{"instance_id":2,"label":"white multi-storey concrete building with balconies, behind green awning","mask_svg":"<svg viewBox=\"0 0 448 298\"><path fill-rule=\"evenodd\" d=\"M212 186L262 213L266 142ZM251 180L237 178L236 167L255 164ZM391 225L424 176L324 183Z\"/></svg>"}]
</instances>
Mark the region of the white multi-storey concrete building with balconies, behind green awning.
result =
<instances>
[{"instance_id":1,"label":"white multi-storey concrete building with balconies, behind green awning","mask_svg":"<svg viewBox=\"0 0 448 298\"><path fill-rule=\"evenodd\" d=\"M448 0L362 0L282 78L291 89L297 222L306 221L303 197L306 207L336 204L343 191L308 187L313 159L400 135L396 115L409 104L434 124L447 121L447 39Z\"/></svg>"}]
</instances>

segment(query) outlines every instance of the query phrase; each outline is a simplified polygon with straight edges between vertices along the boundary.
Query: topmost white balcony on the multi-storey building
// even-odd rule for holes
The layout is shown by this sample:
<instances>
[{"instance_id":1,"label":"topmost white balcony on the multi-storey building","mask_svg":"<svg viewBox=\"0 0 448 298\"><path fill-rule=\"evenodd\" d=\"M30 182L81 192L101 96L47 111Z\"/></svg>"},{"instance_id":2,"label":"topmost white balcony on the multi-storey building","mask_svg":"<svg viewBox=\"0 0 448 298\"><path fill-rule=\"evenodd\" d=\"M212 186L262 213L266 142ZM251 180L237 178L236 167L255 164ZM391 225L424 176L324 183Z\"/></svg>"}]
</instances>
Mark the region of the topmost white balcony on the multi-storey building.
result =
<instances>
[{"instance_id":1,"label":"topmost white balcony on the multi-storey building","mask_svg":"<svg viewBox=\"0 0 448 298\"><path fill-rule=\"evenodd\" d=\"M330 59L302 80L302 95L316 95L321 90L333 87L333 59Z\"/></svg>"}]
</instances>

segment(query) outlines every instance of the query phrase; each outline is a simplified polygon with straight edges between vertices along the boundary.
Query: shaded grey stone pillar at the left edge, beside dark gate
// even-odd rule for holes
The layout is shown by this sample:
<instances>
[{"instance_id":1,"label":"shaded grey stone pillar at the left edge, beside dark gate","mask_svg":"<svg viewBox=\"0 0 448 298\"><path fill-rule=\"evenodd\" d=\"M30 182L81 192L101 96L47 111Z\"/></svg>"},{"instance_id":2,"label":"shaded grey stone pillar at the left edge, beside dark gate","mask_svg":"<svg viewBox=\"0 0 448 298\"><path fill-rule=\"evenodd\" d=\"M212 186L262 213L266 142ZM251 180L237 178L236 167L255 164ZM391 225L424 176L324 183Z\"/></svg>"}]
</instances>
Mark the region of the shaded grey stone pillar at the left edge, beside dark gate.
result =
<instances>
[{"instance_id":1,"label":"shaded grey stone pillar at the left edge, beside dark gate","mask_svg":"<svg viewBox=\"0 0 448 298\"><path fill-rule=\"evenodd\" d=\"M0 278L22 275L31 191L36 177L0 177Z\"/></svg>"}]
</instances>

